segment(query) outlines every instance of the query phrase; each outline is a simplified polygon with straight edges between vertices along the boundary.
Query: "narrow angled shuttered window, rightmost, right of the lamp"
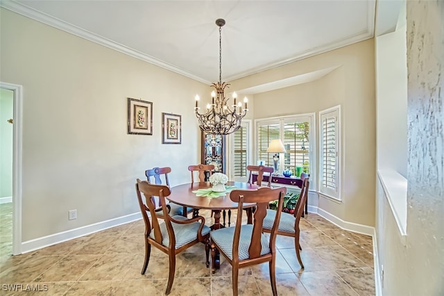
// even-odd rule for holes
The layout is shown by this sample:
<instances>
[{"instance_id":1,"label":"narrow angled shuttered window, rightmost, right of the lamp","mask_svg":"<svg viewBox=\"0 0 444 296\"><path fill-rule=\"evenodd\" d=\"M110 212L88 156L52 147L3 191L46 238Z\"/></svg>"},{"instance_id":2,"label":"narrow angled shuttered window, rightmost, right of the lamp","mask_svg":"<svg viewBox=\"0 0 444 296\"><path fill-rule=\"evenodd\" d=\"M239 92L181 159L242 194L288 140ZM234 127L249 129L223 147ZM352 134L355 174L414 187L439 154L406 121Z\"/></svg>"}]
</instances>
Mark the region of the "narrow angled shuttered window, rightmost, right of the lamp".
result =
<instances>
[{"instance_id":1,"label":"narrow angled shuttered window, rightmost, right of the lamp","mask_svg":"<svg viewBox=\"0 0 444 296\"><path fill-rule=\"evenodd\" d=\"M339 200L340 110L340 106L335 106L319 112L319 191Z\"/></svg>"}]
</instances>

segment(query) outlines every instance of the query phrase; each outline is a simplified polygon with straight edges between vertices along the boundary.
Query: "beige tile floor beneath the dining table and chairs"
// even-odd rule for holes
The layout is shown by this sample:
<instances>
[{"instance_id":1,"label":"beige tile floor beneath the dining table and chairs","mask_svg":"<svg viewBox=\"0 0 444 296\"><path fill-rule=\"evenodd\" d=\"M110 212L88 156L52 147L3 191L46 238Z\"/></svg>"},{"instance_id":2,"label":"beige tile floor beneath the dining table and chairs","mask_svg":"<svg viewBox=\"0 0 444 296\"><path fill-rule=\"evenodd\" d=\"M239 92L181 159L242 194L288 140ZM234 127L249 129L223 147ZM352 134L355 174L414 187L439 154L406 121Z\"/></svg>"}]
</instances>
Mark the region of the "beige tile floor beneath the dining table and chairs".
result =
<instances>
[{"instance_id":1,"label":"beige tile floor beneath the dining table and chairs","mask_svg":"<svg viewBox=\"0 0 444 296\"><path fill-rule=\"evenodd\" d=\"M10 204L0 204L0 295L164 295L165 254L153 248L148 270L140 274L142 220L10 256L10 211ZM210 211L200 214L212 224ZM293 240L278 236L278 295L375 295L371 237L344 231L314 213L302 218L300 226L305 270L300 270ZM205 268L204 245L198 244L178 255L170 295L232 295L230 281L230 265L221 256L221 269L212 274ZM45 291L12 292L4 286L8 284L23 289L33 284ZM267 263L239 272L239 295L272 295Z\"/></svg>"}]
</instances>

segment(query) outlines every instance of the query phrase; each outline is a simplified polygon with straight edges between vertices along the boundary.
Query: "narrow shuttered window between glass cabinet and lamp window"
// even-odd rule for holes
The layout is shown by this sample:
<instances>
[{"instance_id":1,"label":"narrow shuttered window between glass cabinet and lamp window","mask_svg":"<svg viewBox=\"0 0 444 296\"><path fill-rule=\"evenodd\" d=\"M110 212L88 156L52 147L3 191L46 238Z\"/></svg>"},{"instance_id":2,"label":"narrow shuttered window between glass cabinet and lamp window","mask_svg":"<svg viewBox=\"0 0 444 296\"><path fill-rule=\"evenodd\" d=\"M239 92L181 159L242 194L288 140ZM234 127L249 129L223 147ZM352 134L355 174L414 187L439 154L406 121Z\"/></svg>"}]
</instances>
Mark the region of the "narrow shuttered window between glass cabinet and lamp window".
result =
<instances>
[{"instance_id":1,"label":"narrow shuttered window between glass cabinet and lamp window","mask_svg":"<svg viewBox=\"0 0 444 296\"><path fill-rule=\"evenodd\" d=\"M247 165L250 165L250 120L242 120L241 127L230 135L231 177L234 181L246 181Z\"/></svg>"}]
</instances>

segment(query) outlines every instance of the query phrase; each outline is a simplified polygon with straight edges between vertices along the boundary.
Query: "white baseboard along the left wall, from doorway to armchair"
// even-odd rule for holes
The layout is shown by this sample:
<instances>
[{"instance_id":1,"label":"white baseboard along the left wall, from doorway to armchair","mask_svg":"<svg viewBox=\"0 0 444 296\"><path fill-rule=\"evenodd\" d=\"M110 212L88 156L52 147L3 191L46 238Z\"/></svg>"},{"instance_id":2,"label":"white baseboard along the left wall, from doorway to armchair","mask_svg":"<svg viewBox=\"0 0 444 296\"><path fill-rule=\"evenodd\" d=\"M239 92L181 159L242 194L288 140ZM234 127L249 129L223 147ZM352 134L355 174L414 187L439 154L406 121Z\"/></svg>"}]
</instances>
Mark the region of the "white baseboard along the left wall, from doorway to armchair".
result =
<instances>
[{"instance_id":1,"label":"white baseboard along the left wall, from doorway to armchair","mask_svg":"<svg viewBox=\"0 0 444 296\"><path fill-rule=\"evenodd\" d=\"M142 219L142 214L140 212L122 217L117 217L103 222L98 222L95 224L90 224L76 229L71 229L68 231L54 233L51 234L50 236L44 236L42 238L35 238L33 240L28 240L26 242L22 242L22 254L35 251L36 249L49 247L51 245L56 245L60 242L65 242L67 240L72 240L74 238L80 238L80 236L87 236L88 234L97 231L102 231L111 227L117 227L119 225L133 222L139 219Z\"/></svg>"}]
</instances>

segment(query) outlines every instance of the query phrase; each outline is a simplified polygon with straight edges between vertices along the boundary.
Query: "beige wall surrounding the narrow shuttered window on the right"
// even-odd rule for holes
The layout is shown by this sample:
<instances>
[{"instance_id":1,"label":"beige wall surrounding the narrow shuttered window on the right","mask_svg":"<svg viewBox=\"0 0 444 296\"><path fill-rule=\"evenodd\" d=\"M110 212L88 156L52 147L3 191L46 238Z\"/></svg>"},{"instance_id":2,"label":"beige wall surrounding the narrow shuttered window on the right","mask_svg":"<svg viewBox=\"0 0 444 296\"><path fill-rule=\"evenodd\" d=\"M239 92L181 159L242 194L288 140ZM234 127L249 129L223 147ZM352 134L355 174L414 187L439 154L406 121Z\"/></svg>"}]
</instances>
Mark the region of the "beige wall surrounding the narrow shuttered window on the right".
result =
<instances>
[{"instance_id":1,"label":"beige wall surrounding the narrow shuttered window on the right","mask_svg":"<svg viewBox=\"0 0 444 296\"><path fill-rule=\"evenodd\" d=\"M375 67L373 40L329 51L233 81L237 89L338 67L311 83L254 96L254 117L318 113L341 105L342 203L319 198L319 207L341 220L375 222ZM317 116L317 115L316 115ZM316 118L316 120L318 120ZM313 184L312 188L316 188Z\"/></svg>"}]
</instances>

